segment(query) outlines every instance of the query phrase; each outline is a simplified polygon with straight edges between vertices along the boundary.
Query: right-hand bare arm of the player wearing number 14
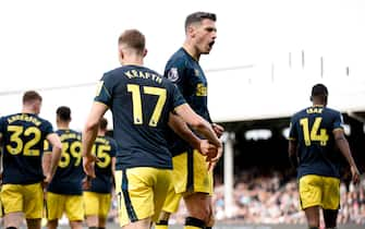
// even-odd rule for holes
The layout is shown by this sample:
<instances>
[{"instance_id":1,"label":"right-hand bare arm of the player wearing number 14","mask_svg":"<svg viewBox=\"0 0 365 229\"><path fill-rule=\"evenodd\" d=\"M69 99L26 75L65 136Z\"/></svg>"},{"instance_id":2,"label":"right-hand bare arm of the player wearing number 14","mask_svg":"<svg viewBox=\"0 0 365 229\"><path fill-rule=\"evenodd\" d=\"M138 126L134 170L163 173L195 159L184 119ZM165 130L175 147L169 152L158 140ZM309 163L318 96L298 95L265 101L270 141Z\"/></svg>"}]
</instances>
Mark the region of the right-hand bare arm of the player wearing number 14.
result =
<instances>
[{"instance_id":1,"label":"right-hand bare arm of the player wearing number 14","mask_svg":"<svg viewBox=\"0 0 365 229\"><path fill-rule=\"evenodd\" d=\"M352 157L350 145L348 140L345 138L343 134L342 129L334 129L333 130L334 141L337 147L340 149L341 154L346 158L348 162L351 167L351 173L352 173L352 180L355 184L360 182L360 171L357 169L357 166Z\"/></svg>"}]
</instances>

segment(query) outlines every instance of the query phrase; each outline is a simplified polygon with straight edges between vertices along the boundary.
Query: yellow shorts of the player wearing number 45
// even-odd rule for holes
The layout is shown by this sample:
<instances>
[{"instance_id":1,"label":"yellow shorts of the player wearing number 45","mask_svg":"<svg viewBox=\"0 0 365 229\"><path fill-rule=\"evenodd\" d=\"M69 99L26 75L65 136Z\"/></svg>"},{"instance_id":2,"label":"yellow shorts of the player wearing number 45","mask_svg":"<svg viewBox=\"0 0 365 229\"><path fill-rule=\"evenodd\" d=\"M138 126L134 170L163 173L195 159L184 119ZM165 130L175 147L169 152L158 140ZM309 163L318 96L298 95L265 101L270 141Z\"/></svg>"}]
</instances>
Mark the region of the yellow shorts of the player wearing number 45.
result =
<instances>
[{"instance_id":1,"label":"yellow shorts of the player wearing number 45","mask_svg":"<svg viewBox=\"0 0 365 229\"><path fill-rule=\"evenodd\" d=\"M84 192L85 216L108 217L111 204L110 193Z\"/></svg>"}]
</instances>

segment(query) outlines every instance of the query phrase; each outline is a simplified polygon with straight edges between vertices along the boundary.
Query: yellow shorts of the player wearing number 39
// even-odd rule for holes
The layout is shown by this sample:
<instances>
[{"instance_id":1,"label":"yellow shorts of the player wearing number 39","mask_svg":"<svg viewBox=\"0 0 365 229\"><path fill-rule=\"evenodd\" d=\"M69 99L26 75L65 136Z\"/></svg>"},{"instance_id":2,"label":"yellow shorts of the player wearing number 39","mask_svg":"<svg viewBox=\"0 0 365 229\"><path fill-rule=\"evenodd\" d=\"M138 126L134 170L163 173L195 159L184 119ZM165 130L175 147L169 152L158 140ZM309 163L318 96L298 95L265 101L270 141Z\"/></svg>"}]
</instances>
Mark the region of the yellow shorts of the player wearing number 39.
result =
<instances>
[{"instance_id":1,"label":"yellow shorts of the player wearing number 39","mask_svg":"<svg viewBox=\"0 0 365 229\"><path fill-rule=\"evenodd\" d=\"M60 219L63 213L70 221L84 220L83 196L47 192L47 219Z\"/></svg>"}]
</instances>

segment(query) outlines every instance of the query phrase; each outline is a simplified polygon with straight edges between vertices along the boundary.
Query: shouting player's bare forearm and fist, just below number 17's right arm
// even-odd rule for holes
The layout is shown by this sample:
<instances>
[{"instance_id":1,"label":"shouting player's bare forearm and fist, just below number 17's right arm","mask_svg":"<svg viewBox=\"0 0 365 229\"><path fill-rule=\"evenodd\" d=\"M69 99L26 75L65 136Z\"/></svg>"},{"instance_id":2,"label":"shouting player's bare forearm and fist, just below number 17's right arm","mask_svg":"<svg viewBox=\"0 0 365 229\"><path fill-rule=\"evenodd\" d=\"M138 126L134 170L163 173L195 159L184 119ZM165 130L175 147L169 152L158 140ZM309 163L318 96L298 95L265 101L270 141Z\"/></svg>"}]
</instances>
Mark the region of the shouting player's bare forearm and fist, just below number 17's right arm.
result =
<instances>
[{"instance_id":1,"label":"shouting player's bare forearm and fist, just below number 17's right arm","mask_svg":"<svg viewBox=\"0 0 365 229\"><path fill-rule=\"evenodd\" d=\"M215 146L209 144L206 140L200 140L194 134L187 124L177 114L170 112L169 126L177 133L181 138L187 142L193 148L199 149L203 155L216 156L217 152Z\"/></svg>"}]
</instances>

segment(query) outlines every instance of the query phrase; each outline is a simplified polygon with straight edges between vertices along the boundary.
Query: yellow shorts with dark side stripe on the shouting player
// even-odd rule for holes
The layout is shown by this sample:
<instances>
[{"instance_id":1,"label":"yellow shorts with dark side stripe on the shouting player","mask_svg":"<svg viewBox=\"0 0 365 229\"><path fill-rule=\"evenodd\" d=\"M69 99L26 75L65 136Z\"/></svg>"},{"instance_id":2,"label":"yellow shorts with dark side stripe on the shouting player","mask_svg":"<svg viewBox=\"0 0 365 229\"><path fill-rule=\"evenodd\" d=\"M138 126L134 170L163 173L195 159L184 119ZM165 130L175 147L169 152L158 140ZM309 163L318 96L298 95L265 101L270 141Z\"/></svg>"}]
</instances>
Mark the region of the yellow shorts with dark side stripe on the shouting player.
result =
<instances>
[{"instance_id":1,"label":"yellow shorts with dark side stripe on the shouting player","mask_svg":"<svg viewBox=\"0 0 365 229\"><path fill-rule=\"evenodd\" d=\"M172 179L177 193L203 192L212 194L212 172L197 149L172 158Z\"/></svg>"}]
</instances>

